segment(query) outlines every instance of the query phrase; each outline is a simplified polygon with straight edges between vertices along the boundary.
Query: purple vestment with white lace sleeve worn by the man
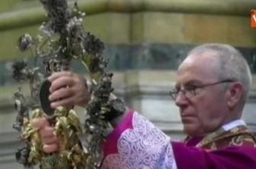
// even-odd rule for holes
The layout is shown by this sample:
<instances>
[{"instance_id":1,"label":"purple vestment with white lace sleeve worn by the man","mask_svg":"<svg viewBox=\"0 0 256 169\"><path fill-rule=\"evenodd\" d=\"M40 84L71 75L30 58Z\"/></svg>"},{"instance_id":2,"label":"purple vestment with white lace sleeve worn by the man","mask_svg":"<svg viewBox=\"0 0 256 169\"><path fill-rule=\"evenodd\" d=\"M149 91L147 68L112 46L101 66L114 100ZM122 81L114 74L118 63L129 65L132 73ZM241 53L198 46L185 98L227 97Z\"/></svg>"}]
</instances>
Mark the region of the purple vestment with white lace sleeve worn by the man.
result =
<instances>
[{"instance_id":1,"label":"purple vestment with white lace sleeve worn by the man","mask_svg":"<svg viewBox=\"0 0 256 169\"><path fill-rule=\"evenodd\" d=\"M236 133L236 135L232 134L225 133L220 136L226 138L226 142L238 136ZM188 139L186 143L171 142L165 133L145 117L130 111L104 142L104 160L101 167L106 169L256 169L254 142L242 146L219 146L216 142L206 142L200 147L198 145L202 139L203 137ZM247 137L246 140L248 140ZM210 149L213 146L215 149Z\"/></svg>"}]
</instances>

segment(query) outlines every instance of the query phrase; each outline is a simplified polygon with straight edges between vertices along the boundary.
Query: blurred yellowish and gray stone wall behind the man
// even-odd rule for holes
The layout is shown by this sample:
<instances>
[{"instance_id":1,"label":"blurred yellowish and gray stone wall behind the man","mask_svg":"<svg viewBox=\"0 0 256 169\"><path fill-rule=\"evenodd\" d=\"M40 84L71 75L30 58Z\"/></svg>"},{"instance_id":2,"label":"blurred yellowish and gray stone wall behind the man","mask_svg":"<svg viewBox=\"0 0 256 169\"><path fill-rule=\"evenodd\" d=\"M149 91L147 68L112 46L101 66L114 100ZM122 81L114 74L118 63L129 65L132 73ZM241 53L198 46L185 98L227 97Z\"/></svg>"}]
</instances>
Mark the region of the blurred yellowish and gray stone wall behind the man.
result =
<instances>
[{"instance_id":1,"label":"blurred yellowish and gray stone wall behind the man","mask_svg":"<svg viewBox=\"0 0 256 169\"><path fill-rule=\"evenodd\" d=\"M73 1L69 1L72 3ZM87 14L85 30L105 44L108 67L114 72L114 92L130 108L152 120L173 139L182 139L178 108L168 95L175 70L195 45L221 42L234 45L254 74L253 88L243 119L256 133L256 28L250 27L255 0L80 0ZM45 13L39 0L0 1L0 168L22 168L14 152L20 145L12 129L15 120L12 95L18 86L29 96L26 83L11 79L11 62L26 58L16 45L24 33L37 36ZM206 63L210 64L210 63ZM86 74L78 61L72 70ZM75 108L81 119L82 108ZM83 121L83 120L82 120Z\"/></svg>"}]
</instances>

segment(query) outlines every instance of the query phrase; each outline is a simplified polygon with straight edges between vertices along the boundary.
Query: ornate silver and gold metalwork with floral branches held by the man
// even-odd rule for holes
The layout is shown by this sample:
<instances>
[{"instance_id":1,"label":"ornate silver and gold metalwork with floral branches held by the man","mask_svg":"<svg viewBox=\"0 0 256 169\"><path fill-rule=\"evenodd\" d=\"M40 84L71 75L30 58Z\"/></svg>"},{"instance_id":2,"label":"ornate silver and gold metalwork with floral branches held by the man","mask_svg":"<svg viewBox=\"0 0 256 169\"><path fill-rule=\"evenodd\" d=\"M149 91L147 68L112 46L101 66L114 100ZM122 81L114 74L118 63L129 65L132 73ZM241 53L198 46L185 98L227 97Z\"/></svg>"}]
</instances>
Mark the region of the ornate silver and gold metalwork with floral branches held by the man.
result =
<instances>
[{"instance_id":1,"label":"ornate silver and gold metalwork with floral branches held by the man","mask_svg":"<svg viewBox=\"0 0 256 169\"><path fill-rule=\"evenodd\" d=\"M102 158L101 143L104 142L106 130L110 126L109 120L125 111L125 105L120 99L110 99L113 74L106 70L104 43L84 30L82 21L85 13L79 11L76 3L73 10L70 10L66 0L40 2L48 17L40 27L41 35L33 38L24 34L18 39L18 48L21 52L30 50L36 58L35 61L41 60L46 76L53 72L69 70L72 58L82 61L87 67L93 96L86 108L88 118L85 120L84 130L85 134L90 136L86 136L85 147L82 148L75 112L56 108L53 116L56 121L54 133L57 139L62 140L59 154L43 153L39 133L31 126L30 119L27 119L23 121L21 133L21 139L27 142L27 147L26 151L21 149L18 156L23 155L21 159L26 161L26 165L40 162L41 168L63 168L64 162L67 162L65 168L98 168ZM34 69L30 69L24 61L13 64L14 79L27 80L30 83L31 96L34 98L32 100L37 102L27 105L27 110L32 110L32 118L41 117L45 113L40 107L44 104L39 104L40 87L44 86L43 74L39 73L37 63L34 66ZM45 103L46 100L40 102ZM30 105L34 105L33 108L30 108ZM29 152L29 155L21 152ZM58 162L60 158L64 159L62 164Z\"/></svg>"}]
</instances>

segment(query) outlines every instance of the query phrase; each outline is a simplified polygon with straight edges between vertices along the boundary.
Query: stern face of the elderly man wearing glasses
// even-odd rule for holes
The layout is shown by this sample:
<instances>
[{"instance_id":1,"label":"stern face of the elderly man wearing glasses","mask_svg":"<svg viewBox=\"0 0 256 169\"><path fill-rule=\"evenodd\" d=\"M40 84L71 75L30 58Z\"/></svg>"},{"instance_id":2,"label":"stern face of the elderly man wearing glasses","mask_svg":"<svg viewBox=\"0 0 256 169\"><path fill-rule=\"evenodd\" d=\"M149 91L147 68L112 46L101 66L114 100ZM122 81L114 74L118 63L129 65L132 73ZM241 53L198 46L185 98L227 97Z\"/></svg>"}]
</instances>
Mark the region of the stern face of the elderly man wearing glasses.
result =
<instances>
[{"instance_id":1,"label":"stern face of the elderly man wearing glasses","mask_svg":"<svg viewBox=\"0 0 256 169\"><path fill-rule=\"evenodd\" d=\"M216 73L216 59L204 52L188 56L178 68L176 89L194 89L195 95L179 92L175 100L180 108L184 132L199 136L213 132L225 123L228 117L226 92L221 83L197 88L219 81Z\"/></svg>"}]
</instances>

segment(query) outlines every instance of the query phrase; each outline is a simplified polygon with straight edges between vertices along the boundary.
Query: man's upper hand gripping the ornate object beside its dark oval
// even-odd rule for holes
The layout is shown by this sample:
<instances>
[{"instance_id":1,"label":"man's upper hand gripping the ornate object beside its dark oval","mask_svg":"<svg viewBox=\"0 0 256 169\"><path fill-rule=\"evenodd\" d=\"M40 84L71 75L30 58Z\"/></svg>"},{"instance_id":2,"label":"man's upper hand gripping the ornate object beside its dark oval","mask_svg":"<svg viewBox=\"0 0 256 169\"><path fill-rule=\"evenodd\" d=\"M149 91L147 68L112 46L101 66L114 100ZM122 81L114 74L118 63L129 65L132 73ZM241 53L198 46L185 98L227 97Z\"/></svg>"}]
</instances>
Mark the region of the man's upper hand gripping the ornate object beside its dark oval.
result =
<instances>
[{"instance_id":1,"label":"man's upper hand gripping the ornate object beside its dark oval","mask_svg":"<svg viewBox=\"0 0 256 169\"><path fill-rule=\"evenodd\" d=\"M48 80L52 83L49 96L52 108L72 108L74 105L85 108L91 99L85 78L78 74L62 71L53 74Z\"/></svg>"}]
</instances>

